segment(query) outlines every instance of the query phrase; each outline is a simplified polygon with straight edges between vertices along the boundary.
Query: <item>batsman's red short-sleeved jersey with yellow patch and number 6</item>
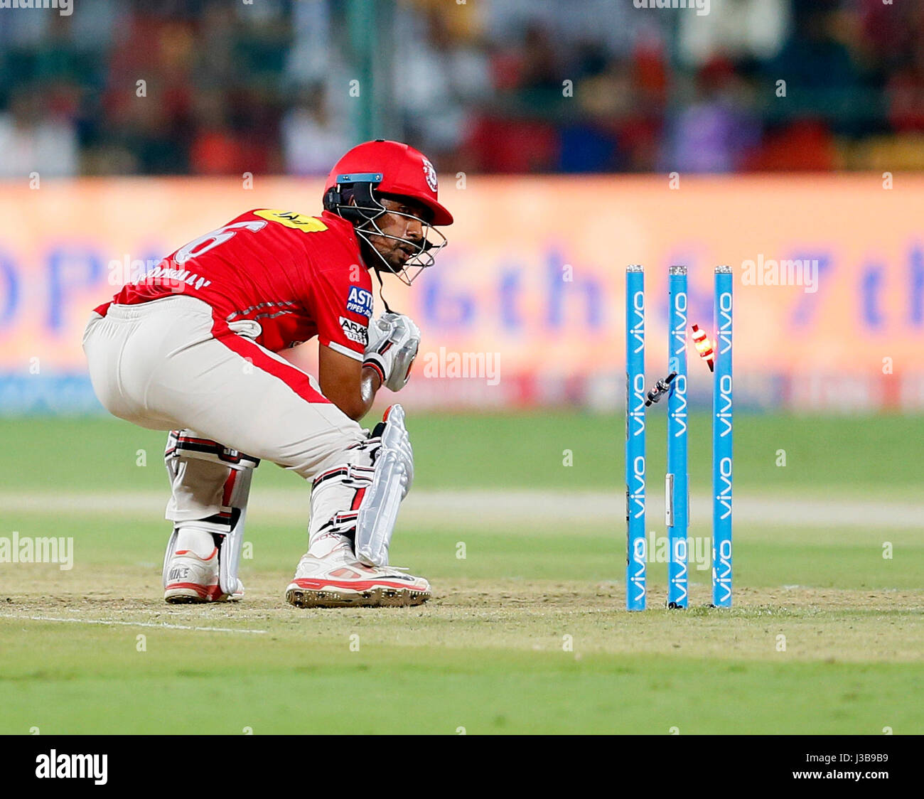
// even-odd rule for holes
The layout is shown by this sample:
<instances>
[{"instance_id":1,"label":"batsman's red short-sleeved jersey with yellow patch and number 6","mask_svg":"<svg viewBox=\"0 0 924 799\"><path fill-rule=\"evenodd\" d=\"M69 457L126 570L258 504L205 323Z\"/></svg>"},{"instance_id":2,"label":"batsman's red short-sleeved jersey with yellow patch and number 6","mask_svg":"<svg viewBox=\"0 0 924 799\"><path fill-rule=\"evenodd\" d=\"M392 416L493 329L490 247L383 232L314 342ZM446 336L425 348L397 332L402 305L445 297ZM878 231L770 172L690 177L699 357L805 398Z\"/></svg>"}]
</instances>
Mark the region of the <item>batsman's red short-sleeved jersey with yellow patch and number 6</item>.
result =
<instances>
[{"instance_id":1,"label":"batsman's red short-sleeved jersey with yellow patch and number 6","mask_svg":"<svg viewBox=\"0 0 924 799\"><path fill-rule=\"evenodd\" d=\"M273 352L317 335L362 360L372 314L372 281L353 225L320 216L257 209L190 241L112 302L135 305L177 294L213 308L215 336L257 321L257 343ZM105 316L111 303L101 305Z\"/></svg>"}]
</instances>

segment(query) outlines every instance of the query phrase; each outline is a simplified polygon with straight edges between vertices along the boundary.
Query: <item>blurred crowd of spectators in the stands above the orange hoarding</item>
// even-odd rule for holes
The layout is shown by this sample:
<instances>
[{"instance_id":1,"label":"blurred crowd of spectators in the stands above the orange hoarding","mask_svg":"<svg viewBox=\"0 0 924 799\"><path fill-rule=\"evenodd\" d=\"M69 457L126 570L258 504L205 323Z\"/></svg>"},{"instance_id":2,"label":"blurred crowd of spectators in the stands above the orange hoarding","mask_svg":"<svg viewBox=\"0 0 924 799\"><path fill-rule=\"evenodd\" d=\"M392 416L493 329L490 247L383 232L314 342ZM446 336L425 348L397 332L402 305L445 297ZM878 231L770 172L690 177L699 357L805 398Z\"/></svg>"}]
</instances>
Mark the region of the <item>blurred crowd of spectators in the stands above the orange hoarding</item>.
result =
<instances>
[{"instance_id":1,"label":"blurred crowd of spectators in the stands above the orange hoarding","mask_svg":"<svg viewBox=\"0 0 924 799\"><path fill-rule=\"evenodd\" d=\"M448 172L924 169L924 3L647 5L0 10L0 177L317 175L380 132ZM374 133L357 112L371 102Z\"/></svg>"}]
</instances>

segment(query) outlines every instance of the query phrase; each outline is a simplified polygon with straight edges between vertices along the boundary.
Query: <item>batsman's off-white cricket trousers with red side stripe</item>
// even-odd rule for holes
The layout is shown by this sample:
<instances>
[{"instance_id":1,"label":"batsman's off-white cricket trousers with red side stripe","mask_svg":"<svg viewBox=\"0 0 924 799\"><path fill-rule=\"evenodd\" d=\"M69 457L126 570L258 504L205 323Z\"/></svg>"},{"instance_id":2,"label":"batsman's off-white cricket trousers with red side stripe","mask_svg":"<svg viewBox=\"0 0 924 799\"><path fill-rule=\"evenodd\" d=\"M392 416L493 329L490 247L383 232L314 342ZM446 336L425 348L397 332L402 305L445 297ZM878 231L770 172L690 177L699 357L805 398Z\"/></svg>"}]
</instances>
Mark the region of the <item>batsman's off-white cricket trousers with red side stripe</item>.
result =
<instances>
[{"instance_id":1,"label":"batsman's off-white cricket trousers with red side stripe","mask_svg":"<svg viewBox=\"0 0 924 799\"><path fill-rule=\"evenodd\" d=\"M212 308L195 297L93 313L83 335L93 391L116 417L152 430L188 429L306 479L354 459L345 450L364 441L365 432L323 397L309 374L243 335L215 338L212 327ZM167 518L217 513L225 467L184 466L173 479ZM318 522L352 500L352 491L330 497Z\"/></svg>"}]
</instances>

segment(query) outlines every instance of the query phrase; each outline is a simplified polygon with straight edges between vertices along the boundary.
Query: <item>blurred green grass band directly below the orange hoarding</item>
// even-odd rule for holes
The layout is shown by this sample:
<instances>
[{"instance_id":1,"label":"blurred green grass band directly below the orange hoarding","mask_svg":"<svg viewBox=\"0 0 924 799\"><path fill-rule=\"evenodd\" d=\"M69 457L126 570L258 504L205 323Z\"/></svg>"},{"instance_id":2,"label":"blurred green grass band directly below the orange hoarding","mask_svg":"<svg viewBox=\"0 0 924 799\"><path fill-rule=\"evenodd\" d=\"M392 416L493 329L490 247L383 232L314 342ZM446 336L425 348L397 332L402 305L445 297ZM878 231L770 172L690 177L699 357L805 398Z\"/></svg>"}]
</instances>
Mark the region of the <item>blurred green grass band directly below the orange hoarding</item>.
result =
<instances>
[{"instance_id":1,"label":"blurred green grass band directly below the orange hoarding","mask_svg":"<svg viewBox=\"0 0 924 799\"><path fill-rule=\"evenodd\" d=\"M369 418L367 427L374 424ZM710 418L690 421L689 465L694 489L711 479ZM407 421L422 488L584 488L622 490L625 419L541 412L517 416L422 416ZM843 492L874 499L914 497L924 483L924 418L787 417L738 414L735 482L738 490L819 494ZM4 490L152 489L163 486L165 434L112 418L0 418L7 449L22 457L3 469ZM74 458L60 457L66 446ZM569 450L572 466L563 466ZM663 414L650 414L649 470L663 474ZM777 466L784 451L785 466ZM136 466L139 453L148 467ZM76 463L75 463L76 461ZM781 461L782 462L782 461ZM158 474L152 475L155 471ZM278 468L261 469L261 484L289 486Z\"/></svg>"}]
</instances>

